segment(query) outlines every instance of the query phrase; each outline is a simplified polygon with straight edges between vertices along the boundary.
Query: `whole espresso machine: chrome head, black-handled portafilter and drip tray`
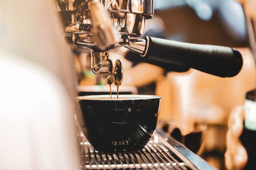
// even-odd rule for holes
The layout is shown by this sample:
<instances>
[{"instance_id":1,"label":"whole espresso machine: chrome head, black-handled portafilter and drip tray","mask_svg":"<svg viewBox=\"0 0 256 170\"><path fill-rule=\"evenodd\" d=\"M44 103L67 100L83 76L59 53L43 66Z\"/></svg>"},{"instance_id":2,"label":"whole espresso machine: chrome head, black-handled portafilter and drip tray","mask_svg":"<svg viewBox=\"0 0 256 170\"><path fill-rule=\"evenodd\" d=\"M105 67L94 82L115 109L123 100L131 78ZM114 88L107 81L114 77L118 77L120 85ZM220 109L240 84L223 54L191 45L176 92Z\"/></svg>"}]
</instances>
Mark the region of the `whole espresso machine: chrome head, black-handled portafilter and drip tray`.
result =
<instances>
[{"instance_id":1,"label":"whole espresso machine: chrome head, black-handled portafilter and drip tray","mask_svg":"<svg viewBox=\"0 0 256 170\"><path fill-rule=\"evenodd\" d=\"M154 0L54 0L54 5L63 21L61 34L90 54L93 73L109 84L122 83L122 62L113 66L109 59L109 50L120 46L160 67L181 66L220 77L236 76L243 66L233 48L142 38L145 20L154 17ZM158 129L138 152L97 152L82 132L78 141L83 169L214 169Z\"/></svg>"}]
</instances>

